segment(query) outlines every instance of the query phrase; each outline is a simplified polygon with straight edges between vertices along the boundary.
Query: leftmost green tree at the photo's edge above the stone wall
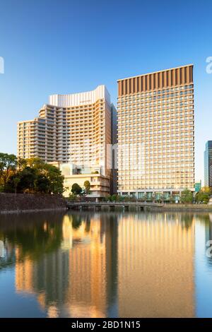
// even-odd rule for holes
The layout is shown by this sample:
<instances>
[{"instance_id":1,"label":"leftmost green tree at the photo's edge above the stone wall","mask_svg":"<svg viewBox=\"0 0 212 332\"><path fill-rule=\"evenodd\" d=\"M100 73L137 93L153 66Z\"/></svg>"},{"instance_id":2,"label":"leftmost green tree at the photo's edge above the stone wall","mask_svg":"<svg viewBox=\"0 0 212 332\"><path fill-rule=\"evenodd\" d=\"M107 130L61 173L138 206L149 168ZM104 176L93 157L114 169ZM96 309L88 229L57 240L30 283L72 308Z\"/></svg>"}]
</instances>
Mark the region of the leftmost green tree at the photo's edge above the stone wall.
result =
<instances>
[{"instance_id":1,"label":"leftmost green tree at the photo's edge above the stone wall","mask_svg":"<svg viewBox=\"0 0 212 332\"><path fill-rule=\"evenodd\" d=\"M8 153L0 153L0 182L4 187L11 173L16 171L17 158L16 155L8 155Z\"/></svg>"}]
</instances>

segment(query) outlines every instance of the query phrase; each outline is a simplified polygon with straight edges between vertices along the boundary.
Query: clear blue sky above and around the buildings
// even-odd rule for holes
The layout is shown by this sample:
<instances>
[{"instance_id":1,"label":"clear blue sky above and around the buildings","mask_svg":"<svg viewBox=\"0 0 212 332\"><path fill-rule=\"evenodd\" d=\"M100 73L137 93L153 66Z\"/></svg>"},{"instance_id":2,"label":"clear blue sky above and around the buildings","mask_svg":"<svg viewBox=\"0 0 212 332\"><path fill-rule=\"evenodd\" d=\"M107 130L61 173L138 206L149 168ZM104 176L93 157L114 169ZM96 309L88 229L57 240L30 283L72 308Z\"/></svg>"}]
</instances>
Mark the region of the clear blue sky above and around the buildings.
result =
<instances>
[{"instance_id":1,"label":"clear blue sky above and around the buildings","mask_svg":"<svg viewBox=\"0 0 212 332\"><path fill-rule=\"evenodd\" d=\"M194 64L196 179L212 140L211 0L1 0L0 151L16 153L16 122L37 117L53 93Z\"/></svg>"}]
</instances>

